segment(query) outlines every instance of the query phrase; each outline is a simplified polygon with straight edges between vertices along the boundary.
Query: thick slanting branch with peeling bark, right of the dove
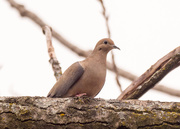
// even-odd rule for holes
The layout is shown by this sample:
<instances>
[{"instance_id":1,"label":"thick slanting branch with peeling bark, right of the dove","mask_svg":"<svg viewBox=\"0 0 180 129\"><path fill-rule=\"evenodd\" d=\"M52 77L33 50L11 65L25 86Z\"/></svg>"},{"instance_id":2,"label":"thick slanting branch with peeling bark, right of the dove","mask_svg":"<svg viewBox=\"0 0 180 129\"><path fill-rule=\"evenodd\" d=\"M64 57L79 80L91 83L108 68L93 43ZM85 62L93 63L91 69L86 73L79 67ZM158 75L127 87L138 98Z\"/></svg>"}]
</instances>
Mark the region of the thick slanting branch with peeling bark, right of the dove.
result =
<instances>
[{"instance_id":1,"label":"thick slanting branch with peeling bark, right of the dove","mask_svg":"<svg viewBox=\"0 0 180 129\"><path fill-rule=\"evenodd\" d=\"M180 47L177 47L154 65L152 65L144 74L131 83L126 90L118 97L122 99L138 99L149 89L155 86L166 74L179 66Z\"/></svg>"}]
</instances>

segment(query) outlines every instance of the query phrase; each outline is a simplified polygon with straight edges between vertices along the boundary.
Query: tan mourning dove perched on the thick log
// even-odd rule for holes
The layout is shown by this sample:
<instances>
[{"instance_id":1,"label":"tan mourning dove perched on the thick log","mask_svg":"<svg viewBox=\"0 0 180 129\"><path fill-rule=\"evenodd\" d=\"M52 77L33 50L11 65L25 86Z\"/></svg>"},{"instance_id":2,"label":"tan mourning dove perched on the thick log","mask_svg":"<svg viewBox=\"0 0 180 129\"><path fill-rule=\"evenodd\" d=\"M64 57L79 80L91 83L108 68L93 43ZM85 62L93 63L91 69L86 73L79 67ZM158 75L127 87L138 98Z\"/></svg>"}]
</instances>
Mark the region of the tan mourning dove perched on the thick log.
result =
<instances>
[{"instance_id":1,"label":"tan mourning dove perched on the thick log","mask_svg":"<svg viewBox=\"0 0 180 129\"><path fill-rule=\"evenodd\" d=\"M119 47L115 46L110 38L99 40L86 59L73 63L65 70L47 97L87 96L94 98L105 83L106 57L112 49L119 49Z\"/></svg>"}]
</instances>

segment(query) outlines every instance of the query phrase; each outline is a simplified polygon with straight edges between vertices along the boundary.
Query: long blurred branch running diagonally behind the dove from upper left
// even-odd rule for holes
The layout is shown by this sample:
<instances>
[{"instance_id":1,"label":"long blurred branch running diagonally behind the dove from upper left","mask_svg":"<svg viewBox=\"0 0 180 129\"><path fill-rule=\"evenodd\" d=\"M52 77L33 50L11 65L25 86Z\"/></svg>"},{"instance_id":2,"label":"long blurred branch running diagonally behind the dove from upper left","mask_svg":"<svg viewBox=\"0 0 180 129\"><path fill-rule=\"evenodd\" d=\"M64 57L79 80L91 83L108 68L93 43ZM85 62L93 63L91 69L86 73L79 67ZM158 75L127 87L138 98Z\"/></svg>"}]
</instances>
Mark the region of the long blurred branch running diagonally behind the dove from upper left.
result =
<instances>
[{"instance_id":1,"label":"long blurred branch running diagonally behind the dove from upper left","mask_svg":"<svg viewBox=\"0 0 180 129\"><path fill-rule=\"evenodd\" d=\"M47 25L44 21L42 21L35 13L27 10L23 5L18 4L17 2L15 2L14 0L7 0L10 5L17 9L19 11L19 13L21 14L22 17L27 17L29 19L31 19L33 22L35 22L37 25L39 25L41 28L45 25ZM57 39L59 41L59 43L63 44L64 46L66 46L67 48L71 49L74 53L76 53L79 56L83 56L83 57L87 57L89 55L89 51L84 51L76 46L73 45L73 43L70 43L69 41L67 41L65 38L63 38L59 33L57 33L54 29L52 32L52 36ZM114 66L110 63L107 62L107 68L112 71L114 71ZM128 80L134 81L136 78L138 78L136 75L125 71L121 68L117 67L117 73L118 75L120 75L121 77L124 77ZM162 85L161 85L162 86ZM158 85L156 85L156 87L158 87ZM164 86L164 89L169 89L167 86ZM156 89L155 89L156 90ZM173 96L178 96L180 97L180 91L176 90L177 92L175 92L174 94L172 94L172 92L169 91L173 91L174 89L171 90L161 90L160 88L158 89L158 91L173 95ZM179 94L177 94L179 93Z\"/></svg>"}]
</instances>

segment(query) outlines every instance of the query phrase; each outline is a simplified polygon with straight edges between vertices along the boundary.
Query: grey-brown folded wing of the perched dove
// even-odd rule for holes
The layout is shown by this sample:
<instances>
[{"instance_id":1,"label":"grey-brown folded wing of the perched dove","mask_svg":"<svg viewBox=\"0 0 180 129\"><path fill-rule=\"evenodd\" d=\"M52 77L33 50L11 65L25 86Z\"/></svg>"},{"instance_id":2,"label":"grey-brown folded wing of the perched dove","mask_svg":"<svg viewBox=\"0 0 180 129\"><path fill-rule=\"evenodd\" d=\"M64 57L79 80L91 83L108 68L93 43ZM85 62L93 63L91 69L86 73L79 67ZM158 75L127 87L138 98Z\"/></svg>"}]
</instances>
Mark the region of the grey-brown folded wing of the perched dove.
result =
<instances>
[{"instance_id":1,"label":"grey-brown folded wing of the perched dove","mask_svg":"<svg viewBox=\"0 0 180 129\"><path fill-rule=\"evenodd\" d=\"M65 95L68 90L80 79L84 69L76 62L72 64L59 78L53 88L50 90L47 97L58 98Z\"/></svg>"}]
</instances>

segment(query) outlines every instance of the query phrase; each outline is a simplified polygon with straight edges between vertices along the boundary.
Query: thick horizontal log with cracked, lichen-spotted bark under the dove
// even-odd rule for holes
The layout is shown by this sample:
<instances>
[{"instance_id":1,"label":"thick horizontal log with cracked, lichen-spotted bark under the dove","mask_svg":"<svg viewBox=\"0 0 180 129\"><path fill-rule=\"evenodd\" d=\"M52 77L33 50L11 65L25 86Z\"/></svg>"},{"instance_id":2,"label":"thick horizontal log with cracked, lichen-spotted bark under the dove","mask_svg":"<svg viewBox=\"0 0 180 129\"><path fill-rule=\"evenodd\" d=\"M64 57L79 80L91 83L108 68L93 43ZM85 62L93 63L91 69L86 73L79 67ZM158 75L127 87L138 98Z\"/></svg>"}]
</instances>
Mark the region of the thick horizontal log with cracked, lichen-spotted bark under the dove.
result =
<instances>
[{"instance_id":1,"label":"thick horizontal log with cracked, lichen-spotted bark under the dove","mask_svg":"<svg viewBox=\"0 0 180 129\"><path fill-rule=\"evenodd\" d=\"M180 103L0 97L1 129L180 128Z\"/></svg>"}]
</instances>

